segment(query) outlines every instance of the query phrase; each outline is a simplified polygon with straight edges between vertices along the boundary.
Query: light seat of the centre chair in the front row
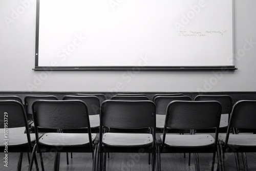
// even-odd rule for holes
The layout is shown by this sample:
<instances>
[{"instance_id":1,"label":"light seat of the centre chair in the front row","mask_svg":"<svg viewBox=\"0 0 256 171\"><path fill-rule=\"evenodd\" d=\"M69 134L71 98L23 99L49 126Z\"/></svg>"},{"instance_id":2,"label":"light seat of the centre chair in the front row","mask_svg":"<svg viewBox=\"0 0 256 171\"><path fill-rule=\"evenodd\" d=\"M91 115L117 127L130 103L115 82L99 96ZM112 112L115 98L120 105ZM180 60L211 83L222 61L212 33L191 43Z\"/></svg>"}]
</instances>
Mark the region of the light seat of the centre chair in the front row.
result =
<instances>
[{"instance_id":1,"label":"light seat of the centre chair in the front row","mask_svg":"<svg viewBox=\"0 0 256 171\"><path fill-rule=\"evenodd\" d=\"M116 147L140 147L153 144L152 134L105 133L102 144Z\"/></svg>"}]
</instances>

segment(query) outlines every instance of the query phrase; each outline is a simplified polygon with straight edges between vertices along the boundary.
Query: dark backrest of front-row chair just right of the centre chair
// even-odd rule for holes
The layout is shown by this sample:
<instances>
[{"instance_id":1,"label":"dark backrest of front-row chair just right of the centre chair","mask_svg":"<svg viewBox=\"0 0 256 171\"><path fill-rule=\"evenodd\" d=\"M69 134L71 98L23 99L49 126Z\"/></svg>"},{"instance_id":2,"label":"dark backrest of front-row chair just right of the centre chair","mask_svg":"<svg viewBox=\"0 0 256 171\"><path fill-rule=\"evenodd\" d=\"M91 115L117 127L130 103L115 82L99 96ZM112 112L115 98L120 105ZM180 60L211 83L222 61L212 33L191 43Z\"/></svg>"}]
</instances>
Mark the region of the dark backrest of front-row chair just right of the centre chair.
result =
<instances>
[{"instance_id":1,"label":"dark backrest of front-row chair just right of the centre chair","mask_svg":"<svg viewBox=\"0 0 256 171\"><path fill-rule=\"evenodd\" d=\"M218 101L172 101L167 106L166 127L181 130L217 128L219 130L221 103Z\"/></svg>"}]
</instances>

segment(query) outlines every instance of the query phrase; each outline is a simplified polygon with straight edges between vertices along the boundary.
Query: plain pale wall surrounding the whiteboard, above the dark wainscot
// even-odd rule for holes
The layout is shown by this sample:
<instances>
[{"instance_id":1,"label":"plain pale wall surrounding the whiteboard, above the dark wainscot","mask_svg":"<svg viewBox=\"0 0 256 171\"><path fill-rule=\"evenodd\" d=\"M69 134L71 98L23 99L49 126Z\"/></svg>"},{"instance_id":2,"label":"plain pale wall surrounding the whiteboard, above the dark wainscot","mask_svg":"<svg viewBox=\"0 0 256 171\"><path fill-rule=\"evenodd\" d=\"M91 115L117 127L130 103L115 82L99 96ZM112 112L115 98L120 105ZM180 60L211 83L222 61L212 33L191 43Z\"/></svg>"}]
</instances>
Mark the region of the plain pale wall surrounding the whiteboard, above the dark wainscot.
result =
<instances>
[{"instance_id":1,"label":"plain pale wall surrounding the whiteboard, above the dark wainscot","mask_svg":"<svg viewBox=\"0 0 256 171\"><path fill-rule=\"evenodd\" d=\"M115 0L114 0L115 1ZM110 5L106 3L106 5ZM123 1L116 10L125 5ZM33 71L36 2L0 0L0 92L256 91L256 1L234 0L234 72ZM216 11L218 12L218 11ZM248 44L252 41L252 44ZM143 57L145 54L141 54ZM150 62L150 61L148 61Z\"/></svg>"}]
</instances>

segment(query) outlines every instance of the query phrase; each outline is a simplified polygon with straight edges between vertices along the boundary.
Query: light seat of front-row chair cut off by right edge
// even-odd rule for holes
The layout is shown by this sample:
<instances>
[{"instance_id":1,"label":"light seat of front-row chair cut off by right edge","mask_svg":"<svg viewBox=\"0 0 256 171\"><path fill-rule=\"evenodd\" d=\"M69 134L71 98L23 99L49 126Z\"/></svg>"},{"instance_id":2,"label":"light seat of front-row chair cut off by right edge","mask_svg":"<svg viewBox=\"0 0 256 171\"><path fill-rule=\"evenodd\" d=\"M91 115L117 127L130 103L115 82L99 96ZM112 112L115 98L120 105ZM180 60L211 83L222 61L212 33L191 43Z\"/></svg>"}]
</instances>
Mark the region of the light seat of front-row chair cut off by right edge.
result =
<instances>
[{"instance_id":1,"label":"light seat of front-row chair cut off by right edge","mask_svg":"<svg viewBox=\"0 0 256 171\"><path fill-rule=\"evenodd\" d=\"M219 135L219 139L225 142L226 134ZM256 146L256 134L229 134L228 145Z\"/></svg>"}]
</instances>

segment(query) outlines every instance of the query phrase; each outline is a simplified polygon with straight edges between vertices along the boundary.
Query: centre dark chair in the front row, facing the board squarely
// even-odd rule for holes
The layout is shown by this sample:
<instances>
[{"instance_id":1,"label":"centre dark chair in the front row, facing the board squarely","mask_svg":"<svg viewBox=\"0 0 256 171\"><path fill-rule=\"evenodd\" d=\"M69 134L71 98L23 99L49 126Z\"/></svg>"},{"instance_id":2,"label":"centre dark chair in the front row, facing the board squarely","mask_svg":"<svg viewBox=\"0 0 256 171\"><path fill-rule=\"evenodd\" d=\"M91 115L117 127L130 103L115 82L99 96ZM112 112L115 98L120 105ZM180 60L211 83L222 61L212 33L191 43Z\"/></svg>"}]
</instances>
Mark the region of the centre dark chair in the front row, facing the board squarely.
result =
<instances>
[{"instance_id":1,"label":"centre dark chair in the front row, facing the board squarely","mask_svg":"<svg viewBox=\"0 0 256 171\"><path fill-rule=\"evenodd\" d=\"M108 132L105 128L118 129ZM141 129L150 129L141 133ZM133 133L121 133L120 130L138 130ZM100 110L99 168L105 170L106 153L151 153L152 170L155 169L156 115L152 101L106 100ZM104 154L104 157L103 157Z\"/></svg>"}]
</instances>

